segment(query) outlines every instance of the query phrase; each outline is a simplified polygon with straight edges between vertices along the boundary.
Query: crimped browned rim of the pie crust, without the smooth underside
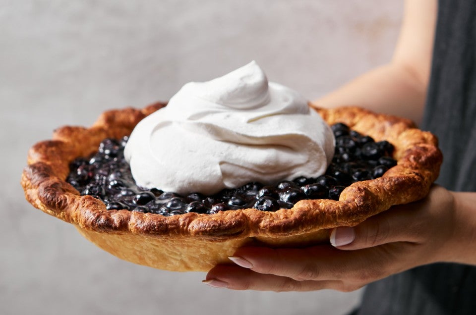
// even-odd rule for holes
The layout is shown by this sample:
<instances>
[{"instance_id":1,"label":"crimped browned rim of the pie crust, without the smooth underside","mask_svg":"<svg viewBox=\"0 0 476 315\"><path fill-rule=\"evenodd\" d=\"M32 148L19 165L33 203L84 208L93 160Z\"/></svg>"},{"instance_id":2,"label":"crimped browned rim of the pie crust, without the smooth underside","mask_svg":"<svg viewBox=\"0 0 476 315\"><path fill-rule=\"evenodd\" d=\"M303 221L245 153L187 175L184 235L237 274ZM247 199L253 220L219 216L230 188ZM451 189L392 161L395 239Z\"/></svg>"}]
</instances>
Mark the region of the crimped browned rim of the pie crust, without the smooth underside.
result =
<instances>
[{"instance_id":1,"label":"crimped browned rim of the pie crust, without the smooth underside","mask_svg":"<svg viewBox=\"0 0 476 315\"><path fill-rule=\"evenodd\" d=\"M64 126L55 130L52 140L39 142L28 152L28 165L21 177L28 202L61 220L101 233L190 236L216 242L246 237L287 237L336 226L354 226L393 205L420 200L438 177L442 162L437 138L417 129L408 119L355 106L324 109L310 103L328 124L343 122L375 141L392 143L397 166L380 178L347 187L339 201L302 200L292 209L276 212L245 209L162 216L106 210L102 201L80 196L65 181L69 163L74 158L97 151L105 138L129 135L140 120L165 105L156 103L142 109L110 110L90 128Z\"/></svg>"}]
</instances>

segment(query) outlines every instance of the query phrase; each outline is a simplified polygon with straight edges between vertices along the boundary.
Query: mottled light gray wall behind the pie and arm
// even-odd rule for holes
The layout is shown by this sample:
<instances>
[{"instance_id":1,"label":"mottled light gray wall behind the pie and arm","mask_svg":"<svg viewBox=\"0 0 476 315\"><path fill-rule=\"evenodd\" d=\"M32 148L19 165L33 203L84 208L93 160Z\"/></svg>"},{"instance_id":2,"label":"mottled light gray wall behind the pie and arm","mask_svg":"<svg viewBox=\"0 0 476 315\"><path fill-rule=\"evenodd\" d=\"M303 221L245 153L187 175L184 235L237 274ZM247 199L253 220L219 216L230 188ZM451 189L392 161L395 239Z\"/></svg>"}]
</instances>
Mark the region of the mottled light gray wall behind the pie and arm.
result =
<instances>
[{"instance_id":1,"label":"mottled light gray wall behind the pie and arm","mask_svg":"<svg viewBox=\"0 0 476 315\"><path fill-rule=\"evenodd\" d=\"M123 262L31 207L28 148L252 59L308 99L388 60L400 1L0 0L0 314L344 314L360 291L233 292Z\"/></svg>"}]
</instances>

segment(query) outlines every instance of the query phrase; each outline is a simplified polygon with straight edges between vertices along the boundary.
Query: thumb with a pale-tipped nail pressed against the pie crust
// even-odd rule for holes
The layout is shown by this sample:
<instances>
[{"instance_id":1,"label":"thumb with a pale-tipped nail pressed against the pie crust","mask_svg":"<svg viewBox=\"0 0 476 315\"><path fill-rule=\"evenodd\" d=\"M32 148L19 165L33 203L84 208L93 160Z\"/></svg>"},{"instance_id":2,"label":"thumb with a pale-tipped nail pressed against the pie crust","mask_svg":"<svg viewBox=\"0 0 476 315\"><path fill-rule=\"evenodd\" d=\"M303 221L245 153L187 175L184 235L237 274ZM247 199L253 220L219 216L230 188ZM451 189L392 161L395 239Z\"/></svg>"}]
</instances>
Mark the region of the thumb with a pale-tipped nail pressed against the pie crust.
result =
<instances>
[{"instance_id":1,"label":"thumb with a pale-tipped nail pressed against the pie crust","mask_svg":"<svg viewBox=\"0 0 476 315\"><path fill-rule=\"evenodd\" d=\"M369 217L354 227L334 228L330 235L332 246L342 250L357 250L392 242L414 241L409 215L394 210L397 209Z\"/></svg>"}]
</instances>

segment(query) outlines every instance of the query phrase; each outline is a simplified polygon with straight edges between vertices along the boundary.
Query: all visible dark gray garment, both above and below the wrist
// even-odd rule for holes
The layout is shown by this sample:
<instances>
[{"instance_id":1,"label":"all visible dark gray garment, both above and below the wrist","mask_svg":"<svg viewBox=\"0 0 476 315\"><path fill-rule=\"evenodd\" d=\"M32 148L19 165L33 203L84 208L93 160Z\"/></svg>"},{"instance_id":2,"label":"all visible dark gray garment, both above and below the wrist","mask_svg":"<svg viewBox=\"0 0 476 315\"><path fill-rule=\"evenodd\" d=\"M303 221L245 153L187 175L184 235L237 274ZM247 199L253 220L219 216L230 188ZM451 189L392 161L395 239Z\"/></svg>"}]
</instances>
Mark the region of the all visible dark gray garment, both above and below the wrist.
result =
<instances>
[{"instance_id":1,"label":"all visible dark gray garment, both above and below the wrist","mask_svg":"<svg viewBox=\"0 0 476 315\"><path fill-rule=\"evenodd\" d=\"M476 0L439 1L421 128L439 138L444 161L437 183L476 191ZM437 263L377 281L356 314L476 314L476 267Z\"/></svg>"}]
</instances>

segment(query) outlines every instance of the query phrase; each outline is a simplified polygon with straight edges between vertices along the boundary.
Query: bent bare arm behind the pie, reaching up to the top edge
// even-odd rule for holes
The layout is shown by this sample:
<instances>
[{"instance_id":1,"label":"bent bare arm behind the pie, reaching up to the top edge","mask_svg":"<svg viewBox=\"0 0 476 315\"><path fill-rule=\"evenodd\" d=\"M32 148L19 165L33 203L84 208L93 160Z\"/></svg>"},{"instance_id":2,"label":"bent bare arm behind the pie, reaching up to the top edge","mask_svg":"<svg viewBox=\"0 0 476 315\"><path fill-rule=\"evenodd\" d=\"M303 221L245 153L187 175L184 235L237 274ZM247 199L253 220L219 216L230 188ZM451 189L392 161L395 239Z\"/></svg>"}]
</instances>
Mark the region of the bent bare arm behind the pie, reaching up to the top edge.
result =
<instances>
[{"instance_id":1,"label":"bent bare arm behind the pie, reaching up to the top edge","mask_svg":"<svg viewBox=\"0 0 476 315\"><path fill-rule=\"evenodd\" d=\"M429 81L436 0L406 0L392 60L316 100L321 107L357 105L421 121Z\"/></svg>"}]
</instances>

